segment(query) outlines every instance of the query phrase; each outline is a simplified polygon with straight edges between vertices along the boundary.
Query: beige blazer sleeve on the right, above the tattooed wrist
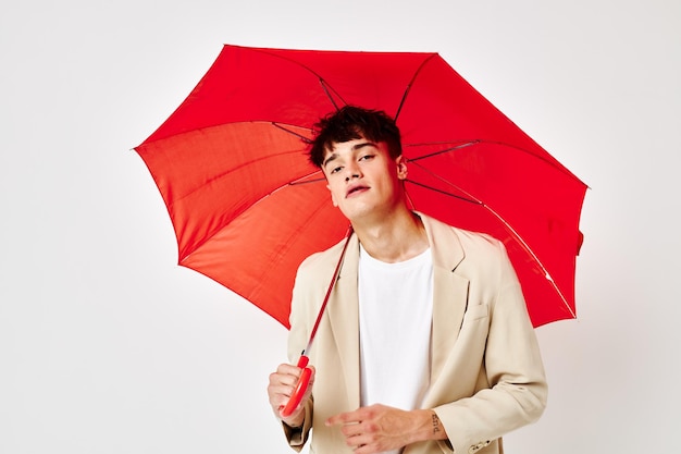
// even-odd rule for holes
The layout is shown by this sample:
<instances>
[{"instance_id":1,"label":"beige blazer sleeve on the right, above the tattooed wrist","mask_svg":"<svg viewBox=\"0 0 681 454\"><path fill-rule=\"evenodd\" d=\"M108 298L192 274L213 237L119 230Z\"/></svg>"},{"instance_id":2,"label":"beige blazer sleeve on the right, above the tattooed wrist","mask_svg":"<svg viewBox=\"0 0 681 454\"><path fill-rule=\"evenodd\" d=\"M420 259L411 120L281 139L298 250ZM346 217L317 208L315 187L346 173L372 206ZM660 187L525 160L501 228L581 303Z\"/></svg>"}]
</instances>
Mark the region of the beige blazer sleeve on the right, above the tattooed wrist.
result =
<instances>
[{"instance_id":1,"label":"beige blazer sleeve on the right, above the tattooed wrist","mask_svg":"<svg viewBox=\"0 0 681 454\"><path fill-rule=\"evenodd\" d=\"M439 443L444 453L474 453L537 420L546 406L544 366L520 283L503 244L497 243L495 249L496 257L487 257L492 263L481 265L492 270L480 274L491 282L470 283L473 295L480 294L475 285L493 286L490 296L482 298L487 317L471 322L484 322L487 330L475 391L470 397L433 408L449 438ZM469 300L468 310L480 303ZM466 335L466 323L465 318L460 335Z\"/></svg>"}]
</instances>

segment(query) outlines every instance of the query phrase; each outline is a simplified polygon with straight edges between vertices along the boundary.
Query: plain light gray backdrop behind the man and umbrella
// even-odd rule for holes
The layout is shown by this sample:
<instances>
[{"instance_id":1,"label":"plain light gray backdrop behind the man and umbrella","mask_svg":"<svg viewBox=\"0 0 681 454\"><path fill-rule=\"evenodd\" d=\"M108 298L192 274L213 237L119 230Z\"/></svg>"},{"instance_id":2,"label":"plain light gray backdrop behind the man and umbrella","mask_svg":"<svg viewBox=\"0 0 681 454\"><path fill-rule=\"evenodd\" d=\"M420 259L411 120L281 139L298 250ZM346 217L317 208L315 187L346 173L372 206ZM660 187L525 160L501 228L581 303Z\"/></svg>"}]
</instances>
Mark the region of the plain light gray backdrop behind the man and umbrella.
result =
<instances>
[{"instance_id":1,"label":"plain light gray backdrop behind the man and umbrella","mask_svg":"<svg viewBox=\"0 0 681 454\"><path fill-rule=\"evenodd\" d=\"M579 320L537 329L550 398L509 453L676 452L678 1L4 1L0 453L287 453L286 331L175 265L131 149L223 44L437 51L591 187Z\"/></svg>"}]
</instances>

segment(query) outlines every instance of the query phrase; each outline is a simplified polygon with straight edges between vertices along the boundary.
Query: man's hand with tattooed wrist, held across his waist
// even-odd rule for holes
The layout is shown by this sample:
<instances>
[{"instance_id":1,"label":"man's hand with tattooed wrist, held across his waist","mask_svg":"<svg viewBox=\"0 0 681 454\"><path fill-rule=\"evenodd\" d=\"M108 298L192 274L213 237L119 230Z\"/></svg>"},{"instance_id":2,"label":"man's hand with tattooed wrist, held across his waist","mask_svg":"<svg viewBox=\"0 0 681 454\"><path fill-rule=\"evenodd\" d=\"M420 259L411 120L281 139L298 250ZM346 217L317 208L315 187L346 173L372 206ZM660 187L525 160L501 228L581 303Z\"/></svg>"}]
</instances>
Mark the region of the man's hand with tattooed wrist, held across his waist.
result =
<instances>
[{"instance_id":1,"label":"man's hand with tattooed wrist, held across his waist","mask_svg":"<svg viewBox=\"0 0 681 454\"><path fill-rule=\"evenodd\" d=\"M435 412L411 412L371 405L355 412L342 413L326 420L326 426L340 425L348 446L357 454L373 454L397 450L424 440L447 438Z\"/></svg>"}]
</instances>

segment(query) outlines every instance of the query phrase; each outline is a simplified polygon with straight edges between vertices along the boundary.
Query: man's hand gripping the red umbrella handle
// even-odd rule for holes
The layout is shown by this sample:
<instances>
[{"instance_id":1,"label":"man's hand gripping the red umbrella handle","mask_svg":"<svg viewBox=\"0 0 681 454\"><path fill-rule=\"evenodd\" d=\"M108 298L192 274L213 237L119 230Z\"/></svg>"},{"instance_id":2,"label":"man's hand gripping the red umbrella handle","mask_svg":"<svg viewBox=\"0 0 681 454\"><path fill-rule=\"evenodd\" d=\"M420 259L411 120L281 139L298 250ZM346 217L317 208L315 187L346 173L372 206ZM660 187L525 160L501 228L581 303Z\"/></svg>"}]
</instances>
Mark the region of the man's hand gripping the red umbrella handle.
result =
<instances>
[{"instance_id":1,"label":"man's hand gripping the red umbrella handle","mask_svg":"<svg viewBox=\"0 0 681 454\"><path fill-rule=\"evenodd\" d=\"M310 366L310 369L312 369L310 384L308 385L298 408L296 408L287 418L282 417L281 410L294 393L302 369L289 364L282 364L276 368L276 372L270 375L270 383L268 384L270 405L272 406L274 414L290 427L302 426L305 418L305 403L308 398L310 398L310 395L312 394L312 384L314 383L314 368Z\"/></svg>"}]
</instances>

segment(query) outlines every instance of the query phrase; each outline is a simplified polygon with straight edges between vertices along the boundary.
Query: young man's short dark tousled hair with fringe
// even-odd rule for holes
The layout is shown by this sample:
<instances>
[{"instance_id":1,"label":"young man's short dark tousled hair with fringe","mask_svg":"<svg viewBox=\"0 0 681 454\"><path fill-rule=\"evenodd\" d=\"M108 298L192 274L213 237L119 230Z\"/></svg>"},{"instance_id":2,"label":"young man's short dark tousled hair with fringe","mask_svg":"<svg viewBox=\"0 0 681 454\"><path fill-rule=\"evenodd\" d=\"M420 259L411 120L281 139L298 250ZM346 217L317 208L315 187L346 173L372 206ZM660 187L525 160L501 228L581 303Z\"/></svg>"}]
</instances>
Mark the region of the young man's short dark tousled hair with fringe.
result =
<instances>
[{"instance_id":1,"label":"young man's short dark tousled hair with fringe","mask_svg":"<svg viewBox=\"0 0 681 454\"><path fill-rule=\"evenodd\" d=\"M384 142L393 159L403 154L399 128L395 120L381 110L345 106L322 118L314 124L312 133L309 158L318 168L322 167L324 155L334 143L361 137L372 142Z\"/></svg>"}]
</instances>

